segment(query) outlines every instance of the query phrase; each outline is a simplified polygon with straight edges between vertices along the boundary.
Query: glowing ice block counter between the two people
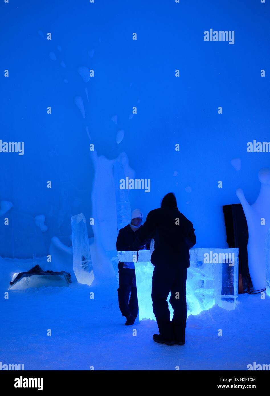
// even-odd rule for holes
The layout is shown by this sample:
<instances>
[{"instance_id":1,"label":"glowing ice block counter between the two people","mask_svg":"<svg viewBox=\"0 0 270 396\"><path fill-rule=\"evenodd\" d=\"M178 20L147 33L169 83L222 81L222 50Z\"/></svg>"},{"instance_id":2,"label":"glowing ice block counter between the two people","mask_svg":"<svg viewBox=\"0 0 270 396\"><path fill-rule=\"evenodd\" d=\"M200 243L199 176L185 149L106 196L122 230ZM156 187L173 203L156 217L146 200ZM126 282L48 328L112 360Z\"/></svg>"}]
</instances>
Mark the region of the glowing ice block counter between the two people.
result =
<instances>
[{"instance_id":1,"label":"glowing ice block counter between the two people","mask_svg":"<svg viewBox=\"0 0 270 396\"><path fill-rule=\"evenodd\" d=\"M117 252L119 261L133 261L135 251ZM152 275L154 266L150 251L138 252L135 262L139 319L153 319ZM135 257L137 258L137 257ZM170 294L167 301L169 301ZM227 310L236 307L238 299L238 248L190 249L190 267L187 270L187 316L197 315L217 304ZM171 318L173 309L169 305Z\"/></svg>"}]
</instances>

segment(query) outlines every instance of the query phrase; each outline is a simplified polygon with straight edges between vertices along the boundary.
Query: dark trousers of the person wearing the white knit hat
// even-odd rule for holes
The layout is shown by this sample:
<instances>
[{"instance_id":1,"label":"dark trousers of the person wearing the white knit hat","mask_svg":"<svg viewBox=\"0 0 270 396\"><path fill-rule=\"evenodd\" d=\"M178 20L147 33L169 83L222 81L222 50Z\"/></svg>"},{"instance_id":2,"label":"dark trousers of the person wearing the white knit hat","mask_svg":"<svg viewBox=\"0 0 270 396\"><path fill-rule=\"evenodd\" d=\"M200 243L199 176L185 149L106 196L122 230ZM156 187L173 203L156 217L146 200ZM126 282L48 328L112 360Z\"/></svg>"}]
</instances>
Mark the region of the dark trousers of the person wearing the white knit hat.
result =
<instances>
[{"instance_id":1,"label":"dark trousers of the person wearing the white knit hat","mask_svg":"<svg viewBox=\"0 0 270 396\"><path fill-rule=\"evenodd\" d=\"M139 305L137 298L135 270L130 268L119 268L118 272L119 288L117 291L120 311L125 317L132 314L134 318L137 318Z\"/></svg>"}]
</instances>

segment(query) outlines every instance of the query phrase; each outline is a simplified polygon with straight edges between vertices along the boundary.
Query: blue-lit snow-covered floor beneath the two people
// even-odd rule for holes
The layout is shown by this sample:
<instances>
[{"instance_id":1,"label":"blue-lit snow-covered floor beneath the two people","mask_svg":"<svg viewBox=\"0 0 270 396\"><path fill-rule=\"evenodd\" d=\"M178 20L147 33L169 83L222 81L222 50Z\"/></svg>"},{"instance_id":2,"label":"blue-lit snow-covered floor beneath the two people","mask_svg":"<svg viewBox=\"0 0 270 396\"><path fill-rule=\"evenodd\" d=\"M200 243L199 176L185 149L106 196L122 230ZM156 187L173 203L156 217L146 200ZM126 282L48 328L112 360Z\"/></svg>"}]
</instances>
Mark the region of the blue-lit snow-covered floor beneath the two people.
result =
<instances>
[{"instance_id":1,"label":"blue-lit snow-covered floor beneath the two people","mask_svg":"<svg viewBox=\"0 0 270 396\"><path fill-rule=\"evenodd\" d=\"M253 362L270 364L267 295L240 295L236 310L214 306L189 316L186 344L167 346L152 339L155 321L125 326L116 278L93 287L10 291L4 299L9 272L1 260L2 364L24 364L25 370L246 370Z\"/></svg>"}]
</instances>

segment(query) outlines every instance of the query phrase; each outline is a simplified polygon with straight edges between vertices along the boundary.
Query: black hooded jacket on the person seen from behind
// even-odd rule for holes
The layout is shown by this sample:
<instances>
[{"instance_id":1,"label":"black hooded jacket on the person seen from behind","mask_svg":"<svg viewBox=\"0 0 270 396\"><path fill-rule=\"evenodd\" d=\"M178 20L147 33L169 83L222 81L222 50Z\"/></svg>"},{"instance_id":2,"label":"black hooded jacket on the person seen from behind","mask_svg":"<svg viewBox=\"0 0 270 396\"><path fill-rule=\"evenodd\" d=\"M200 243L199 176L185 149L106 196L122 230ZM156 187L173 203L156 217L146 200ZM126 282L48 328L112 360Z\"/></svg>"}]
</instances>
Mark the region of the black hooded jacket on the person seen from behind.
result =
<instances>
[{"instance_id":1,"label":"black hooded jacket on the person seen from behind","mask_svg":"<svg viewBox=\"0 0 270 396\"><path fill-rule=\"evenodd\" d=\"M136 232L137 238L129 247L138 250L149 238L154 238L153 265L179 265L188 268L189 249L196 244L196 236L191 223L177 208L175 195L165 195L161 208L151 210L144 225Z\"/></svg>"}]
</instances>

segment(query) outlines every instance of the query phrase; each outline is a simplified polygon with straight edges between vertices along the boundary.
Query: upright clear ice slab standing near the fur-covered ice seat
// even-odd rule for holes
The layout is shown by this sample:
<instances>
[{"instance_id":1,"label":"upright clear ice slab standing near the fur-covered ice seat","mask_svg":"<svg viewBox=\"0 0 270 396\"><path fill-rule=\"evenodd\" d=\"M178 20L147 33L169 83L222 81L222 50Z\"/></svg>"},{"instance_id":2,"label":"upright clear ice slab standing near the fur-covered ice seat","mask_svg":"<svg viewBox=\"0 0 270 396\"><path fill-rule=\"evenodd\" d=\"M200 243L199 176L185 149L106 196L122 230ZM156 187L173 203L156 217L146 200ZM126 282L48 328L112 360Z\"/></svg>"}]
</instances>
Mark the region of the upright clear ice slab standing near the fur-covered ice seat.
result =
<instances>
[{"instance_id":1,"label":"upright clear ice slab standing near the fur-covered ice seat","mask_svg":"<svg viewBox=\"0 0 270 396\"><path fill-rule=\"evenodd\" d=\"M83 213L71 217L73 270L78 282L91 285L94 272Z\"/></svg>"}]
</instances>

